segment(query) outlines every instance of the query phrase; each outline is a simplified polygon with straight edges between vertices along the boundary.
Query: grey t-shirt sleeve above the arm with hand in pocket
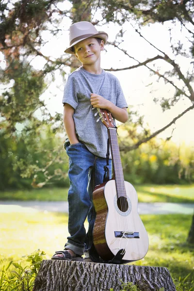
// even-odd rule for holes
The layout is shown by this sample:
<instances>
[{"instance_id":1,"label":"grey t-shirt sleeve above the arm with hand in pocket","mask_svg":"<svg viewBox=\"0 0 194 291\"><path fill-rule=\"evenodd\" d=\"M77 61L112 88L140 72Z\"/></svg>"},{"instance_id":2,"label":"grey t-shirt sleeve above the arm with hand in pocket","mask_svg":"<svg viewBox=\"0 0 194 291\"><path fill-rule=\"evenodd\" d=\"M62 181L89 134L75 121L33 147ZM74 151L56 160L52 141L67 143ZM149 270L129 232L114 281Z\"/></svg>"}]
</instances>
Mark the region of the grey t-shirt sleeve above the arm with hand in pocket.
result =
<instances>
[{"instance_id":1,"label":"grey t-shirt sleeve above the arm with hand in pocket","mask_svg":"<svg viewBox=\"0 0 194 291\"><path fill-rule=\"evenodd\" d=\"M74 109L78 106L79 84L73 76L69 76L65 88L62 102L71 105Z\"/></svg>"}]
</instances>

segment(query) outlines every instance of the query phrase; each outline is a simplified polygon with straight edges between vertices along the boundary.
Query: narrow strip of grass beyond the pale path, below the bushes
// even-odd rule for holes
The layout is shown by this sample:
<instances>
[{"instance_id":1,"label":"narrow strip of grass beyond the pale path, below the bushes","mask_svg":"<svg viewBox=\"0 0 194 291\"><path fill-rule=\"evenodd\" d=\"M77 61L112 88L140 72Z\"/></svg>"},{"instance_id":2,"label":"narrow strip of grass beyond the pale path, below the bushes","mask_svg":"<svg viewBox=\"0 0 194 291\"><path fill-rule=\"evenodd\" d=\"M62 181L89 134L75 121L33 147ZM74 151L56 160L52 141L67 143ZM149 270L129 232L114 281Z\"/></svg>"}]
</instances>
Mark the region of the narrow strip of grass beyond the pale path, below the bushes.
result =
<instances>
[{"instance_id":1,"label":"narrow strip of grass beyond the pale path, below the bushes","mask_svg":"<svg viewBox=\"0 0 194 291\"><path fill-rule=\"evenodd\" d=\"M194 203L192 185L134 185L139 202ZM0 192L0 200L67 201L68 188L42 188Z\"/></svg>"}]
</instances>

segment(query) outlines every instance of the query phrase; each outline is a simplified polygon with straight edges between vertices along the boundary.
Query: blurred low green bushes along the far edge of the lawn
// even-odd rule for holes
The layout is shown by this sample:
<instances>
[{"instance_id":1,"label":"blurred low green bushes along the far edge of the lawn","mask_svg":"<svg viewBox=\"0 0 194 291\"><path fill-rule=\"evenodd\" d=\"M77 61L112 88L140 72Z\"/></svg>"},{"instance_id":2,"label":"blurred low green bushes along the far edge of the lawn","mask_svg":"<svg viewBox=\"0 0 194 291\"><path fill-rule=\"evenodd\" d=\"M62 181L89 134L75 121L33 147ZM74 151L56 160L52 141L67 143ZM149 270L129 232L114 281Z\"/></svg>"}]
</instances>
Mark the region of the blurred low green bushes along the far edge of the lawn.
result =
<instances>
[{"instance_id":1,"label":"blurred low green bushes along the far edge of the lawn","mask_svg":"<svg viewBox=\"0 0 194 291\"><path fill-rule=\"evenodd\" d=\"M119 145L130 143L130 125L118 129ZM68 157L64 138L42 124L36 130L0 135L0 187L67 187ZM134 184L186 184L194 182L194 148L182 143L152 139L137 149L121 151L125 180Z\"/></svg>"}]
</instances>

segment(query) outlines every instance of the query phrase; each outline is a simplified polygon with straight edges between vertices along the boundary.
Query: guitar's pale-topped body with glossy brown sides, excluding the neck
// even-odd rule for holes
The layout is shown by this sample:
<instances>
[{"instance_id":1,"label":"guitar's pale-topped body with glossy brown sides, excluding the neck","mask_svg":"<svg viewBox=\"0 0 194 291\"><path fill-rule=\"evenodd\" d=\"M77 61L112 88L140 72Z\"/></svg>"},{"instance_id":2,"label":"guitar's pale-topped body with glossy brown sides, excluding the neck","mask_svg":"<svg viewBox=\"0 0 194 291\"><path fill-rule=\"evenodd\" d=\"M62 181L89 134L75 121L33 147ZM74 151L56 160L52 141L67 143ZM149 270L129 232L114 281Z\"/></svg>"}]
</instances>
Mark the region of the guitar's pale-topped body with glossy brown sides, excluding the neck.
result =
<instances>
[{"instance_id":1,"label":"guitar's pale-topped body with glossy brown sides, excluding the neck","mask_svg":"<svg viewBox=\"0 0 194 291\"><path fill-rule=\"evenodd\" d=\"M137 193L125 181L127 203L124 211L117 205L115 180L98 185L93 192L97 213L93 240L98 255L111 260L120 249L125 250L125 263L145 257L148 236L137 211ZM116 237L117 236L117 237Z\"/></svg>"}]
</instances>

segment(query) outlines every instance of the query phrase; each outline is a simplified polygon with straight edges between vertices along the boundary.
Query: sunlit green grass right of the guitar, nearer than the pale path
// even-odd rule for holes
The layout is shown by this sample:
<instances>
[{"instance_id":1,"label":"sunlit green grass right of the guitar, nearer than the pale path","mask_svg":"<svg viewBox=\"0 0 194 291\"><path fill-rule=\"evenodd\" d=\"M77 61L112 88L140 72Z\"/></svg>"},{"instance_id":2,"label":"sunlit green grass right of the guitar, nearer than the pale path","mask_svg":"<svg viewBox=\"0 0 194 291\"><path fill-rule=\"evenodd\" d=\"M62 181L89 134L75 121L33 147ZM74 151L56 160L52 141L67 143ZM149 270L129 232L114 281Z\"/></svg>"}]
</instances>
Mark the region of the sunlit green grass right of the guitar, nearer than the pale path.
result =
<instances>
[{"instance_id":1,"label":"sunlit green grass right of the guitar, nearer than the pale path","mask_svg":"<svg viewBox=\"0 0 194 291\"><path fill-rule=\"evenodd\" d=\"M141 215L149 237L149 250L137 265L167 267L178 279L194 275L194 245L186 243L191 226L190 215Z\"/></svg>"}]
</instances>

